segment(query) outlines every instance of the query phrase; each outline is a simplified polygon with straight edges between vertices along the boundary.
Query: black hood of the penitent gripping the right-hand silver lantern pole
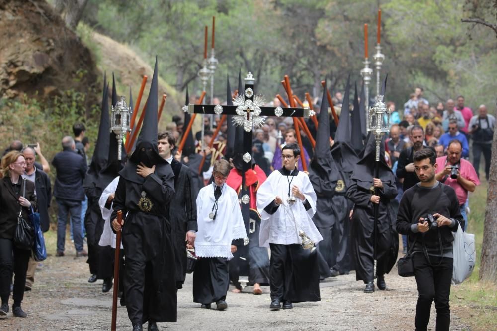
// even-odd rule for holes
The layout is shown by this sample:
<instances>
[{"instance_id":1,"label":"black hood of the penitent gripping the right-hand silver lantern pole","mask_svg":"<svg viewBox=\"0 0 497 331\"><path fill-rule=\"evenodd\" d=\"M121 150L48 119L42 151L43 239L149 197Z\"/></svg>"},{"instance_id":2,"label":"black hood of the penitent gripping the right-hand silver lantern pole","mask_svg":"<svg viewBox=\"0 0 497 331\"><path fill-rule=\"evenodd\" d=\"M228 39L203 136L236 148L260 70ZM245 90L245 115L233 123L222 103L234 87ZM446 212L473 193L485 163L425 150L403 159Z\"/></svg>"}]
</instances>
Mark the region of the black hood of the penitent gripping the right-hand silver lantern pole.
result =
<instances>
[{"instance_id":1,"label":"black hood of the penitent gripping the right-hand silver lantern pole","mask_svg":"<svg viewBox=\"0 0 497 331\"><path fill-rule=\"evenodd\" d=\"M362 158L354 167L352 179L357 181L357 185L363 189L369 190L373 185L373 177L375 177L376 164L376 141L373 133L368 134L366 146ZM385 162L385 136L380 142L380 161L378 162L378 178L382 182L395 183L395 176L392 169Z\"/></svg>"}]
</instances>

